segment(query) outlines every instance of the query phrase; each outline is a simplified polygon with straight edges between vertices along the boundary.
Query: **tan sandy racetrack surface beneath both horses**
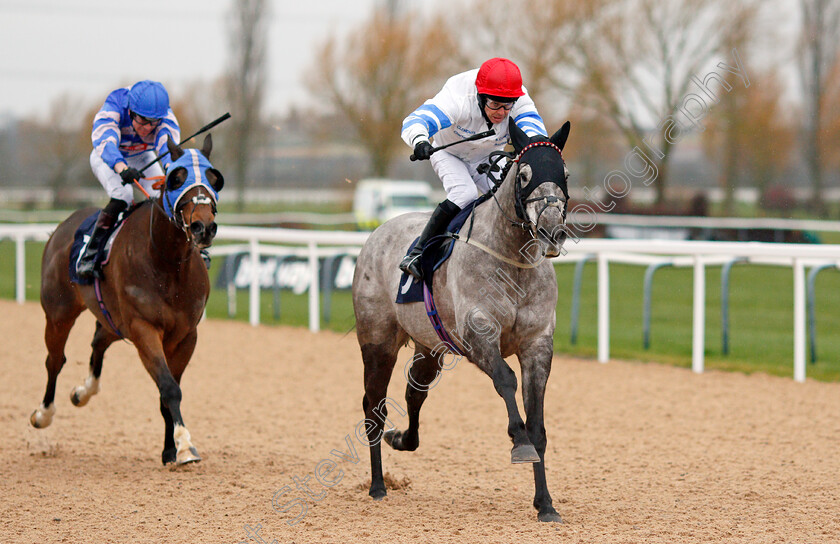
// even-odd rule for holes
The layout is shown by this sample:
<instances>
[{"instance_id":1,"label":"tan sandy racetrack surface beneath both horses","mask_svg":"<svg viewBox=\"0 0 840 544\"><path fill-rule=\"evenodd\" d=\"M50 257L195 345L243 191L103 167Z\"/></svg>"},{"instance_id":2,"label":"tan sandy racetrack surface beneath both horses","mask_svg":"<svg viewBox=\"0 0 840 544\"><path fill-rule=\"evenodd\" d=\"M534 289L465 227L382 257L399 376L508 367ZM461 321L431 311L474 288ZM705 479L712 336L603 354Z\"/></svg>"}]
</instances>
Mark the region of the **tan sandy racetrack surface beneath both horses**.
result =
<instances>
[{"instance_id":1,"label":"tan sandy racetrack surface beneath both horses","mask_svg":"<svg viewBox=\"0 0 840 544\"><path fill-rule=\"evenodd\" d=\"M202 323L182 411L204 460L170 469L131 345L111 347L101 391L74 407L93 335L83 314L55 419L36 430L44 318L10 301L0 316L0 542L840 540L840 384L555 358L546 465L564 523L541 524L530 466L510 464L502 400L469 363L430 392L416 452L383 447L389 490L374 502L353 334ZM411 355L388 391L400 403Z\"/></svg>"}]
</instances>

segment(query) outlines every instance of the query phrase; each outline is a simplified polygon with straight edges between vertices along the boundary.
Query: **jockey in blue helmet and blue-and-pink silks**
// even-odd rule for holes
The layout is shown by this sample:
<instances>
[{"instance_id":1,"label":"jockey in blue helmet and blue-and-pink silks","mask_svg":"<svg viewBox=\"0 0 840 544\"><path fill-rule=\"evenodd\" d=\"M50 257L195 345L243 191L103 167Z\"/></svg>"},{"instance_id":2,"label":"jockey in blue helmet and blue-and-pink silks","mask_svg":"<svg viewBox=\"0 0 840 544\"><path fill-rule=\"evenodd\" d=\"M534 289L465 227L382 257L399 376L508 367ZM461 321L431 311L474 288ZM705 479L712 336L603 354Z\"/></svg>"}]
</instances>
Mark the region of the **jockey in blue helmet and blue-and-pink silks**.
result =
<instances>
[{"instance_id":1,"label":"jockey in blue helmet and blue-and-pink silks","mask_svg":"<svg viewBox=\"0 0 840 544\"><path fill-rule=\"evenodd\" d=\"M111 92L105 99L93 119L90 166L111 200L99 213L79 260L79 277L90 278L96 272L94 259L99 248L107 240L117 216L134 201L131 184L138 181L150 195L158 194L152 188L152 181L143 176L162 176L169 165L169 156L145 173L139 169L166 152L167 139L180 142L181 129L169 107L169 93L157 81L139 81Z\"/></svg>"}]
</instances>

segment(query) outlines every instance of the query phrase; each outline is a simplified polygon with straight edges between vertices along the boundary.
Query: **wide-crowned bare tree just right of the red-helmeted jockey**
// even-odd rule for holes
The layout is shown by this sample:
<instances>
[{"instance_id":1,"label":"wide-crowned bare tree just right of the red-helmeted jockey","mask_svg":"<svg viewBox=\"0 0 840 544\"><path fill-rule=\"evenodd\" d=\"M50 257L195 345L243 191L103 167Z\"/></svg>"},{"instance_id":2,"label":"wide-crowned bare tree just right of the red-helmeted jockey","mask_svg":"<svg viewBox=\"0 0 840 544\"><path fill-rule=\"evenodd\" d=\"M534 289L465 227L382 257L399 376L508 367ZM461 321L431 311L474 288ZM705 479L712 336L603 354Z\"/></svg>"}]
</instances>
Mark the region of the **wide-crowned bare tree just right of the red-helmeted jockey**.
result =
<instances>
[{"instance_id":1,"label":"wide-crowned bare tree just right of the red-helmeted jockey","mask_svg":"<svg viewBox=\"0 0 840 544\"><path fill-rule=\"evenodd\" d=\"M542 104L555 93L608 119L629 149L651 148L657 203L665 200L676 141L662 121L682 105L692 76L721 56L731 28L756 0L482 0L476 41L520 63ZM725 51L729 53L729 50ZM729 61L731 63L731 60ZM651 127L655 127L651 134ZM597 145L597 143L596 143Z\"/></svg>"}]
</instances>

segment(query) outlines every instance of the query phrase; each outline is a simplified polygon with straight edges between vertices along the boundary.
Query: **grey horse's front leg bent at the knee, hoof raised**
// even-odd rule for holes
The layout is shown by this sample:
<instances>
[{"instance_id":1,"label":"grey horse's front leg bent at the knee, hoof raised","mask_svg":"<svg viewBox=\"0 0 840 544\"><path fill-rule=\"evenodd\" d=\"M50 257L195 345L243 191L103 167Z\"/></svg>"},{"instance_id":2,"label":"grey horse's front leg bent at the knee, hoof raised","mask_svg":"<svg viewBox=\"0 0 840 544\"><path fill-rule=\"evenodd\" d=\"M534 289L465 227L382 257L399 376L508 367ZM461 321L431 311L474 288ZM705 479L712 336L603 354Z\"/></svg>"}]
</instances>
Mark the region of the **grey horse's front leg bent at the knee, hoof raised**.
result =
<instances>
[{"instance_id":1,"label":"grey horse's front leg bent at the knee, hoof raised","mask_svg":"<svg viewBox=\"0 0 840 544\"><path fill-rule=\"evenodd\" d=\"M476 328L476 331L489 330ZM513 441L513 449L510 452L511 463L538 463L540 461L537 450L528 438L525 429L525 422L519 415L519 408L516 406L516 373L502 358L499 346L482 336L479 332L471 331L465 335L465 340L471 346L468 356L481 370L493 380L493 387L505 401L508 413L508 436Z\"/></svg>"}]
</instances>

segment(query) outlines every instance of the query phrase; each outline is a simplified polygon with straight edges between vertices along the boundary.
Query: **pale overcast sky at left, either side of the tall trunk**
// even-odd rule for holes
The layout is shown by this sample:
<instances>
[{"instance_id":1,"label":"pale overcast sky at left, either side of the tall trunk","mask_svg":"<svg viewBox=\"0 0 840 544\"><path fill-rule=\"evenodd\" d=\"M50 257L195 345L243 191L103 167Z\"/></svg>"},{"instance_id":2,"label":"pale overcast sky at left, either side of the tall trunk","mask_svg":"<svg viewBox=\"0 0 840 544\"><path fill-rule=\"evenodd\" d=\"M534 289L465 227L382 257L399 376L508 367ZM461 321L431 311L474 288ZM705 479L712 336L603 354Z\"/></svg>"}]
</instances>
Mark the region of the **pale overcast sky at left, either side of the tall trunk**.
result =
<instances>
[{"instance_id":1,"label":"pale overcast sky at left, either side of the tall trunk","mask_svg":"<svg viewBox=\"0 0 840 544\"><path fill-rule=\"evenodd\" d=\"M266 110L306 104L314 51L384 0L269 0ZM0 117L44 116L69 94L101 103L141 79L177 93L228 63L231 0L0 0Z\"/></svg>"}]
</instances>

